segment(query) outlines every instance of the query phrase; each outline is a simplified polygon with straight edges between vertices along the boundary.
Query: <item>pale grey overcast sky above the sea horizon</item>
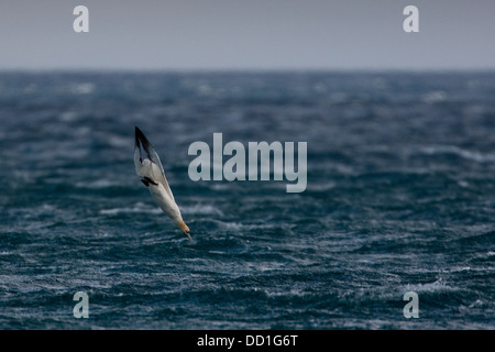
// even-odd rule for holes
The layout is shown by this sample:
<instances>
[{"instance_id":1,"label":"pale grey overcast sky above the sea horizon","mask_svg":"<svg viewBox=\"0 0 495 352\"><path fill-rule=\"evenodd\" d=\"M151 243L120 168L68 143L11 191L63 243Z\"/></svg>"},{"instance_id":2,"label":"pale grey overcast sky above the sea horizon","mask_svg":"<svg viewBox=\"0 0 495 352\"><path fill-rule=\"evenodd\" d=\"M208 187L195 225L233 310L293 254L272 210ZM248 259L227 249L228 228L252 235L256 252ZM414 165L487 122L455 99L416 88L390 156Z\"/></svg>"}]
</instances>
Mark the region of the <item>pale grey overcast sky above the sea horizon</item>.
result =
<instances>
[{"instance_id":1,"label":"pale grey overcast sky above the sea horizon","mask_svg":"<svg viewBox=\"0 0 495 352\"><path fill-rule=\"evenodd\" d=\"M495 0L1 0L0 45L0 69L495 69Z\"/></svg>"}]
</instances>

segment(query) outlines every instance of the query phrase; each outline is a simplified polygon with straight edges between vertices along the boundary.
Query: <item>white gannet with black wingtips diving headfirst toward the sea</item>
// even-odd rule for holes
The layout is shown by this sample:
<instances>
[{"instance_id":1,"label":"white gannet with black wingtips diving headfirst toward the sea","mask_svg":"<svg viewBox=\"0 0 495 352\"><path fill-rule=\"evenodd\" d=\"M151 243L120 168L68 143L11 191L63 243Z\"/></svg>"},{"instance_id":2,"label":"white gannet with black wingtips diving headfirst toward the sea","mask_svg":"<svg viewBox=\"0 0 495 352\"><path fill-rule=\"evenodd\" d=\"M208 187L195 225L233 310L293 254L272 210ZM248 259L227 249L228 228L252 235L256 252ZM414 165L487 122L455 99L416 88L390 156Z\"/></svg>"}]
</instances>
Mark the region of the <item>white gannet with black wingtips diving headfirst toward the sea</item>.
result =
<instances>
[{"instance_id":1,"label":"white gannet with black wingtips diving headfirst toward the sea","mask_svg":"<svg viewBox=\"0 0 495 352\"><path fill-rule=\"evenodd\" d=\"M144 158L142 150L144 150L145 153ZM170 187L168 187L165 172L160 162L160 156L138 127L135 127L134 166L138 176L141 177L141 182L144 186L150 189L150 194L158 207L175 221L189 241L193 241L189 234L189 228L184 222Z\"/></svg>"}]
</instances>

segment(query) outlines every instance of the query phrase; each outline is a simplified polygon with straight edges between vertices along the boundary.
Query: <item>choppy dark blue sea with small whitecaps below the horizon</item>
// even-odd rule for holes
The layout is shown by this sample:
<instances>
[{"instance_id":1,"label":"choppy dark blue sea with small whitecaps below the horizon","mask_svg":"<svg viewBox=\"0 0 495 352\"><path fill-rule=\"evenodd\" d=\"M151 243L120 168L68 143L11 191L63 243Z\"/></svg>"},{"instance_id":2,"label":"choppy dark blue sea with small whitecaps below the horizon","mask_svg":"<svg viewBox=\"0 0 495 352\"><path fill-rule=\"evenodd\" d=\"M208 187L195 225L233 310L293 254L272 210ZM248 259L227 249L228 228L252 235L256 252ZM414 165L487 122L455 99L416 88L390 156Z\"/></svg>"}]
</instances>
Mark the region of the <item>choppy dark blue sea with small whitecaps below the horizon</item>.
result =
<instances>
[{"instance_id":1,"label":"choppy dark blue sea with small whitecaps below the horizon","mask_svg":"<svg viewBox=\"0 0 495 352\"><path fill-rule=\"evenodd\" d=\"M1 329L495 329L493 73L4 73L0 121ZM190 180L215 132L307 142L307 189Z\"/></svg>"}]
</instances>

